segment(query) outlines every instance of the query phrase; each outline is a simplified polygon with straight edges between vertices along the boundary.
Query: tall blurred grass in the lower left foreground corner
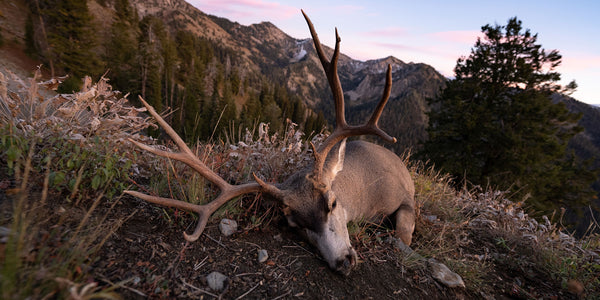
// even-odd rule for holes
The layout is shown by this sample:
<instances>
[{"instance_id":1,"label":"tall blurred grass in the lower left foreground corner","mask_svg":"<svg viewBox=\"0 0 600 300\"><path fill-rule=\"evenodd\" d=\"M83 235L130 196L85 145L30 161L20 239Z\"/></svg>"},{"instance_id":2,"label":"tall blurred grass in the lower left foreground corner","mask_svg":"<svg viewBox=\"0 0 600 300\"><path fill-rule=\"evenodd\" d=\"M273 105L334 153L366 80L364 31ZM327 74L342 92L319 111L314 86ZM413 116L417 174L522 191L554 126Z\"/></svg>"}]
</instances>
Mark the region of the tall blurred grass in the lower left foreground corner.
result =
<instances>
[{"instance_id":1,"label":"tall blurred grass in the lower left foreground corner","mask_svg":"<svg viewBox=\"0 0 600 300\"><path fill-rule=\"evenodd\" d=\"M22 176L15 178L18 188L13 200L1 207L2 215L9 217L0 217L5 235L0 244L0 295L3 299L119 299L113 292L117 286L98 287L89 281L95 254L126 221L106 222L118 199L100 215L96 209L103 194L87 210L48 203L50 169L41 191L32 190L41 179L33 173L33 149L34 143L26 160L17 162L23 167Z\"/></svg>"}]
</instances>

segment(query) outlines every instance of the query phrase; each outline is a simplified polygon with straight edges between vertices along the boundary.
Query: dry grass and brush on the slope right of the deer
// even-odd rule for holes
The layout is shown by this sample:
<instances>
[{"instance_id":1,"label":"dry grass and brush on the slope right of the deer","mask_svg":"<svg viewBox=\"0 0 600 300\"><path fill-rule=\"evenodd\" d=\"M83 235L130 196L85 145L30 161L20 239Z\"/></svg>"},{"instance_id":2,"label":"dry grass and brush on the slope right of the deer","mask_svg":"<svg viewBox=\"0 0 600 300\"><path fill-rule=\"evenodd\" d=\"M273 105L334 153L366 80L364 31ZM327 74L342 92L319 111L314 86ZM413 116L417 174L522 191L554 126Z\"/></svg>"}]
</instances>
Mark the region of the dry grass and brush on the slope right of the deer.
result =
<instances>
[{"instance_id":1,"label":"dry grass and brush on the slope right of the deer","mask_svg":"<svg viewBox=\"0 0 600 300\"><path fill-rule=\"evenodd\" d=\"M546 274L580 296L600 296L600 236L577 239L546 216L539 222L507 192L457 191L447 175L424 165L411 164L419 206L418 252L444 261L474 291L491 293L488 274L502 265Z\"/></svg>"}]
</instances>

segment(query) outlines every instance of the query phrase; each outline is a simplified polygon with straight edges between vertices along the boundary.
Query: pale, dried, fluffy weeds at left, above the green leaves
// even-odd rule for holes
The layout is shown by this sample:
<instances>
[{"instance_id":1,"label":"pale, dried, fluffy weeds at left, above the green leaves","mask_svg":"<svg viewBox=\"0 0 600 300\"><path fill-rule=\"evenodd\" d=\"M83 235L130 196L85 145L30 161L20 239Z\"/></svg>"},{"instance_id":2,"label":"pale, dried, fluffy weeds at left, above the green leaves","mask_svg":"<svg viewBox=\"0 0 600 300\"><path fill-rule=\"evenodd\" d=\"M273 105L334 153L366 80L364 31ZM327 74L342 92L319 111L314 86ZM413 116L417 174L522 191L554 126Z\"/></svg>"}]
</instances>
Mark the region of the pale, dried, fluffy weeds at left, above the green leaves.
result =
<instances>
[{"instance_id":1,"label":"pale, dried, fluffy weeds at left, above the green leaves","mask_svg":"<svg viewBox=\"0 0 600 300\"><path fill-rule=\"evenodd\" d=\"M152 126L140 116L144 108L128 105L127 99L113 91L108 79L102 77L92 84L84 79L79 92L54 92L65 79L53 78L38 82L40 70L28 81L14 73L0 72L0 121L16 127L26 137L65 136L82 140L102 136L122 144L126 138L147 139L138 134Z\"/></svg>"}]
</instances>

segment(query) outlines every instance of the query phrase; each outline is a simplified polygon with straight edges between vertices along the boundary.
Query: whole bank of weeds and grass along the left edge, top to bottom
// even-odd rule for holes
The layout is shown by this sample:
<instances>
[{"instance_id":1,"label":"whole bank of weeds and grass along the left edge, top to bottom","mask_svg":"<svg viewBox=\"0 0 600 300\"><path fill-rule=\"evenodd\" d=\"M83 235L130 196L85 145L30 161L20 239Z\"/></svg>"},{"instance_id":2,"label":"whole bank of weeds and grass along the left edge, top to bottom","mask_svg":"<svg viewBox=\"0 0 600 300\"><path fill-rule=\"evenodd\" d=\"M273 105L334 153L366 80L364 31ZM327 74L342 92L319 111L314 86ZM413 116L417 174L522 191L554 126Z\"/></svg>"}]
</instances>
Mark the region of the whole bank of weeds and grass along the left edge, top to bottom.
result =
<instances>
[{"instance_id":1,"label":"whole bank of weeds and grass along the left edge, top to bottom","mask_svg":"<svg viewBox=\"0 0 600 300\"><path fill-rule=\"evenodd\" d=\"M68 95L38 80L0 72L0 295L119 298L91 265L126 220L107 219L135 171L124 141L151 123L105 79Z\"/></svg>"}]
</instances>

